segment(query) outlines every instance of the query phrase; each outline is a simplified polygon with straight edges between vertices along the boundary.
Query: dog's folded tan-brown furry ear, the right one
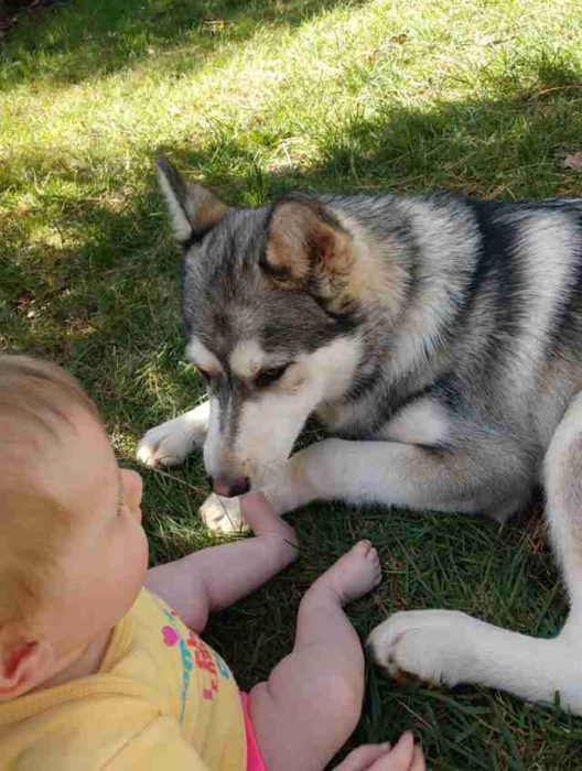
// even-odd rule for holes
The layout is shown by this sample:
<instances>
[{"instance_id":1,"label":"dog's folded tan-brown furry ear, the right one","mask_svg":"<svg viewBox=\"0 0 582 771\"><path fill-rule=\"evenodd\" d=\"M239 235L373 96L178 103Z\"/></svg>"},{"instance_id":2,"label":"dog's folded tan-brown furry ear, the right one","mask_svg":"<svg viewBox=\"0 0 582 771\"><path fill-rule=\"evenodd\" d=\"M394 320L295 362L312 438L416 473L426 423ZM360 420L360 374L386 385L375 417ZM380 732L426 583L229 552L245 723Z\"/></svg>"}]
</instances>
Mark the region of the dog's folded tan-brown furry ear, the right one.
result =
<instances>
[{"instance_id":1,"label":"dog's folded tan-brown furry ear, the right one","mask_svg":"<svg viewBox=\"0 0 582 771\"><path fill-rule=\"evenodd\" d=\"M354 265L349 234L317 199L288 198L273 210L263 268L272 280L336 297Z\"/></svg>"}]
</instances>

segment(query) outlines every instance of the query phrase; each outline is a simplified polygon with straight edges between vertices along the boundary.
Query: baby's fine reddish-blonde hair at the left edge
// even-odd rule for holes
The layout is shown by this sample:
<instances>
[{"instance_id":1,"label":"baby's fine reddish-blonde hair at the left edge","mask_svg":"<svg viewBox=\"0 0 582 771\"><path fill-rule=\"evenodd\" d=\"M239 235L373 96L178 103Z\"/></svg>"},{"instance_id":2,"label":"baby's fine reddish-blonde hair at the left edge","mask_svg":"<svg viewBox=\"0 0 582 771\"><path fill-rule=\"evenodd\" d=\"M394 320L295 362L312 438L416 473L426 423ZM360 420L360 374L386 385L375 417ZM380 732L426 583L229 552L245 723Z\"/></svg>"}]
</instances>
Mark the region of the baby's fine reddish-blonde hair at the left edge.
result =
<instances>
[{"instance_id":1,"label":"baby's fine reddish-blonde hair at the left edge","mask_svg":"<svg viewBox=\"0 0 582 771\"><path fill-rule=\"evenodd\" d=\"M57 569L72 512L47 476L79 409L97 420L95 404L61 367L0 356L0 626L29 617Z\"/></svg>"}]
</instances>

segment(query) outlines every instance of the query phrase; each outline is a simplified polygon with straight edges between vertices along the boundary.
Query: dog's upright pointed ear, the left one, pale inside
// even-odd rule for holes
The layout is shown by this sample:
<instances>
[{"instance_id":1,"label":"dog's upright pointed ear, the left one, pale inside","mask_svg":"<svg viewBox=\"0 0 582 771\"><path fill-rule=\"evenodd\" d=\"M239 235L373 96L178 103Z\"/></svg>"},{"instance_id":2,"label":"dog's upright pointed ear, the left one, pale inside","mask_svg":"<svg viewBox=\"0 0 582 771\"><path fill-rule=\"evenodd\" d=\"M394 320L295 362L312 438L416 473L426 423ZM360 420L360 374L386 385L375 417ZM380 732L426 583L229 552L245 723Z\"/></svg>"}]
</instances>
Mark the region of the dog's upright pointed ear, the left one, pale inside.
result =
<instances>
[{"instance_id":1,"label":"dog's upright pointed ear, the left one, pale inside","mask_svg":"<svg viewBox=\"0 0 582 771\"><path fill-rule=\"evenodd\" d=\"M223 219L228 207L214 193L203 185L186 183L165 158L158 159L155 166L179 243L188 243Z\"/></svg>"}]
</instances>

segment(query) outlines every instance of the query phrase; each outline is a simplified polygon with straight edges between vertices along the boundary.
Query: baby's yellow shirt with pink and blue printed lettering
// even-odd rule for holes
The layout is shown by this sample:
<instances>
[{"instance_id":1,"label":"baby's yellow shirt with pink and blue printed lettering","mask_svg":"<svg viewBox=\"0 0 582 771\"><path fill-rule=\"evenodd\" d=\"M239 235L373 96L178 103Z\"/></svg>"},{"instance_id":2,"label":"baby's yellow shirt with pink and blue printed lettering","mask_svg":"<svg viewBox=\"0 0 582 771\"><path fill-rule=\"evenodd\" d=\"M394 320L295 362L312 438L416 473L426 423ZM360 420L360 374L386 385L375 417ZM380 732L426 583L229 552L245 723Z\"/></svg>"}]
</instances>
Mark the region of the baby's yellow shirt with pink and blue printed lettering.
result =
<instances>
[{"instance_id":1,"label":"baby's yellow shirt with pink and blue printed lettering","mask_svg":"<svg viewBox=\"0 0 582 771\"><path fill-rule=\"evenodd\" d=\"M241 771L246 736L230 671L142 589L99 671L0 704L0 769Z\"/></svg>"}]
</instances>

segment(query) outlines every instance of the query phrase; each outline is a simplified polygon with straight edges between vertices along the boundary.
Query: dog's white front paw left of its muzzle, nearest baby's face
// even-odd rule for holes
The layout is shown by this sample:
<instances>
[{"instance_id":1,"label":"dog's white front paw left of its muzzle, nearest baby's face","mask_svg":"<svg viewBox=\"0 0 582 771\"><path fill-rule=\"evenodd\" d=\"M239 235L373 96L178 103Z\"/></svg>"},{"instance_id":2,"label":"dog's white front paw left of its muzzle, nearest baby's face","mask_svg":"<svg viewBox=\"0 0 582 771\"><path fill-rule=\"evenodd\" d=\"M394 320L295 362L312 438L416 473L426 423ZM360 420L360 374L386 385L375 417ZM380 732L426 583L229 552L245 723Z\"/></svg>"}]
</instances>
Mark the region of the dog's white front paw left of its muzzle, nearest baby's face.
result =
<instances>
[{"instance_id":1,"label":"dog's white front paw left of its muzzle, nearest baby's face","mask_svg":"<svg viewBox=\"0 0 582 771\"><path fill-rule=\"evenodd\" d=\"M150 428L138 445L137 457L146 466L177 466L195 447L202 447L208 430L211 403L203 402L165 423Z\"/></svg>"}]
</instances>

